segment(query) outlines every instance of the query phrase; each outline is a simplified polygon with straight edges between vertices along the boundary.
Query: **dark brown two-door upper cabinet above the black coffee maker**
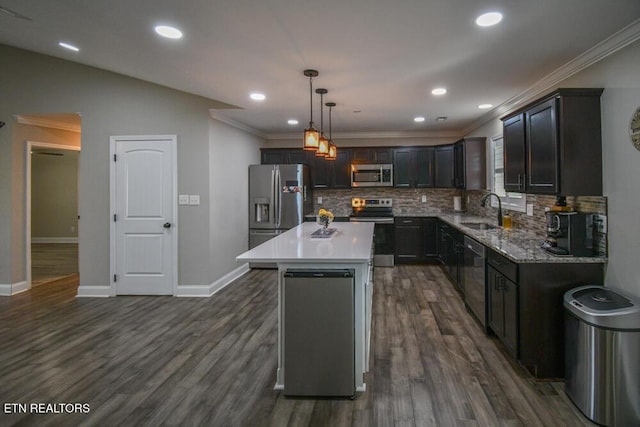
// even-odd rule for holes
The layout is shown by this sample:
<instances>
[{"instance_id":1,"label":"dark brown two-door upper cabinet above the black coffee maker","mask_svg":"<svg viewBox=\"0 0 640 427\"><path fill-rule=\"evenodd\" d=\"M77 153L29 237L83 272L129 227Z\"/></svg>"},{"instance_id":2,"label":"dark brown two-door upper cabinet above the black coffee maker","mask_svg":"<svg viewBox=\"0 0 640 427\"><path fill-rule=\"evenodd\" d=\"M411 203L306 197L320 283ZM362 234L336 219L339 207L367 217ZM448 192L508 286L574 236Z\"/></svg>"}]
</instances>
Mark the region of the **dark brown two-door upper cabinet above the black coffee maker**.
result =
<instances>
[{"instance_id":1,"label":"dark brown two-door upper cabinet above the black coffee maker","mask_svg":"<svg viewBox=\"0 0 640 427\"><path fill-rule=\"evenodd\" d=\"M558 89L502 119L507 191L602 195L602 91Z\"/></svg>"}]
</instances>

